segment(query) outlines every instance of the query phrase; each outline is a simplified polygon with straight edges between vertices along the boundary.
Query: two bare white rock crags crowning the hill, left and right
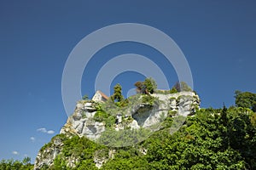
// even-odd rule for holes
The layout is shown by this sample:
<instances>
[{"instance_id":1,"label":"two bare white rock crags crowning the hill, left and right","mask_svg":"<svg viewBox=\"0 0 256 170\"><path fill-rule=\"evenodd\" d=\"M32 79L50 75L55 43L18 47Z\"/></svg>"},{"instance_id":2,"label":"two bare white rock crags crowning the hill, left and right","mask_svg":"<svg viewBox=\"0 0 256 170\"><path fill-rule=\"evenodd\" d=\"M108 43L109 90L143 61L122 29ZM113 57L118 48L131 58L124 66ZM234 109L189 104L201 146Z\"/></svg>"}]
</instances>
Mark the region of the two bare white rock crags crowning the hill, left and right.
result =
<instances>
[{"instance_id":1,"label":"two bare white rock crags crowning the hill, left and right","mask_svg":"<svg viewBox=\"0 0 256 170\"><path fill-rule=\"evenodd\" d=\"M137 99L133 105L127 106L123 112L119 111L116 116L116 130L124 128L122 118L131 116L133 119L126 126L131 128L152 127L156 123L162 122L168 111L177 111L177 115L188 116L199 108L200 99L194 92L180 92L177 94L152 94L156 99L154 105L143 103ZM72 116L69 116L67 123L61 128L61 133L72 135L78 134L80 137L85 136L95 140L105 131L104 122L96 122L96 101L81 100L76 105ZM110 113L112 114L112 113ZM124 126L123 126L124 125Z\"/></svg>"}]
</instances>

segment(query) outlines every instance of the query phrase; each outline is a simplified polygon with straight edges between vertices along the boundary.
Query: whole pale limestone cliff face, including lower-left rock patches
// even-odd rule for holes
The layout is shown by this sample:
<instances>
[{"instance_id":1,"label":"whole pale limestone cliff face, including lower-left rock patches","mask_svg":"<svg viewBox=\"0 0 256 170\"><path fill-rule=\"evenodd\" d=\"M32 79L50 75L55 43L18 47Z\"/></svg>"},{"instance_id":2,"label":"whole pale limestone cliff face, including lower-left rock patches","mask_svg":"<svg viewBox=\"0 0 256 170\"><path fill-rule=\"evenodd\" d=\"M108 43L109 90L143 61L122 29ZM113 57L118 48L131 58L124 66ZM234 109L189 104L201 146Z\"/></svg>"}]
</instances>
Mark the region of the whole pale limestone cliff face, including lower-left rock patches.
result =
<instances>
[{"instance_id":1,"label":"whole pale limestone cliff face, including lower-left rock patches","mask_svg":"<svg viewBox=\"0 0 256 170\"><path fill-rule=\"evenodd\" d=\"M149 99L143 99L143 95L137 96L137 99L131 101L128 106L119 110L108 108L108 104L104 104L103 109L99 105L105 103L105 99L101 100L100 93L96 93L94 100L81 100L76 105L76 109L72 116L69 116L67 123L61 128L61 134L72 138L74 135L86 137L90 140L97 141L107 129L122 131L128 129L149 129L149 131L158 130L160 123L167 116L189 116L199 108L200 99L194 92L181 92L177 94L152 94L147 96ZM132 98L131 98L132 100ZM106 107L107 105L107 107ZM108 112L115 121L110 125L108 121L99 121L96 119L98 111ZM108 117L107 117L108 118ZM106 119L107 120L107 119ZM157 126L156 126L157 125ZM104 143L105 144L105 143ZM35 162L35 169L40 169L44 165L52 166L56 156L61 153L63 143L58 137L52 139L49 146L45 146L38 152ZM78 158L71 156L66 158L69 167L75 167ZM100 161L99 161L100 160ZM95 157L96 166L101 167L107 159ZM102 163L101 163L102 162Z\"/></svg>"}]
</instances>

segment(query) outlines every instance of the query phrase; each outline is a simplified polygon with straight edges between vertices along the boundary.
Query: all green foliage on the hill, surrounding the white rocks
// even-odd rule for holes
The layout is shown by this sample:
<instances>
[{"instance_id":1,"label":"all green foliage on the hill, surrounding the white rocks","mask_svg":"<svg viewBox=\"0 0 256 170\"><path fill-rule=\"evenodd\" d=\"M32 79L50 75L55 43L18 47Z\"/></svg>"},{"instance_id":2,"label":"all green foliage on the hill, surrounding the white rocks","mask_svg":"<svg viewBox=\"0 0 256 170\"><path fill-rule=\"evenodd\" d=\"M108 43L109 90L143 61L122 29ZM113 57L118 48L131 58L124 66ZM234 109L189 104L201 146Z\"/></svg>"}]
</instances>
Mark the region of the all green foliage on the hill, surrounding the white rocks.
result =
<instances>
[{"instance_id":1,"label":"all green foliage on the hill, surrounding the white rocks","mask_svg":"<svg viewBox=\"0 0 256 170\"><path fill-rule=\"evenodd\" d=\"M116 94L120 90L116 88ZM175 116L176 111L168 111L156 132L126 128L125 122L128 125L132 121L130 116L123 117L124 130L115 131L113 126L119 111L131 109L130 105L138 99L152 105L158 99L148 94L137 94L129 98L125 107L116 105L124 99L116 98L116 102L110 99L96 105L97 112L93 117L95 121L106 124L102 136L93 142L75 135L72 138L56 135L41 151L53 146L54 139L60 139L61 153L55 157L52 167L44 166L42 169L96 170L96 161L101 161L101 169L106 170L256 169L256 113L251 110L255 96L236 91L235 97L236 107L196 109L186 120L183 116ZM183 122L183 126L177 132L172 131L179 122ZM71 160L74 160L75 167L70 167ZM32 169L32 164L29 158L22 162L3 160L0 169L28 170Z\"/></svg>"}]
</instances>

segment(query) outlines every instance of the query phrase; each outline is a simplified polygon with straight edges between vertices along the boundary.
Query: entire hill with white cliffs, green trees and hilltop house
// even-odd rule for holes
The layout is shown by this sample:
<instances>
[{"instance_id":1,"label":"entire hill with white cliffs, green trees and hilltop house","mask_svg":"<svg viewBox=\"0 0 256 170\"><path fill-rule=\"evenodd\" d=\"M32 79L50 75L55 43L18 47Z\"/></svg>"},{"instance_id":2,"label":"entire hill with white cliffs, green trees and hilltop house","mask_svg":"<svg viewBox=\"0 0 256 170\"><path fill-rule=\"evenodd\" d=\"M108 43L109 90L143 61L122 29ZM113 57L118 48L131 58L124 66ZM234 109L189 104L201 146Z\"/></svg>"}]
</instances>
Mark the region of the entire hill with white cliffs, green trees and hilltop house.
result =
<instances>
[{"instance_id":1,"label":"entire hill with white cliffs, green trees and hilltop house","mask_svg":"<svg viewBox=\"0 0 256 170\"><path fill-rule=\"evenodd\" d=\"M256 168L256 94L236 91L236 106L205 109L184 82L170 90L151 79L135 86L127 99L119 84L111 96L84 95L33 167L2 161L0 169Z\"/></svg>"}]
</instances>

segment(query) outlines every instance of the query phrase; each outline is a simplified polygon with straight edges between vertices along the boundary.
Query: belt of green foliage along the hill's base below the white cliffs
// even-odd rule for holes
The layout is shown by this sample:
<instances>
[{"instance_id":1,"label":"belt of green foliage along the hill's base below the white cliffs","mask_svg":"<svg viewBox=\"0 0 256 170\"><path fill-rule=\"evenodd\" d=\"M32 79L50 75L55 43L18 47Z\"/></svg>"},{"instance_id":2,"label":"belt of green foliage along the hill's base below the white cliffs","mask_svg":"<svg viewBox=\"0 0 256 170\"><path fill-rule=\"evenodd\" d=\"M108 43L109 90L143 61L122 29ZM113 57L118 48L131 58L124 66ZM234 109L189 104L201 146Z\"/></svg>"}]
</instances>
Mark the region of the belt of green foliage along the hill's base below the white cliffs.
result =
<instances>
[{"instance_id":1,"label":"belt of green foliage along the hill's base below the white cliffs","mask_svg":"<svg viewBox=\"0 0 256 170\"><path fill-rule=\"evenodd\" d=\"M69 169L66 158L71 156L79 160L73 169L97 169L96 157L105 160L102 169L109 170L256 169L255 114L241 107L201 109L188 116L183 127L171 134L169 127L174 119L170 113L163 127L142 142L139 138L147 137L146 131L130 131L125 135L128 131L113 133L109 129L100 139L101 144L114 144L108 146L77 136L71 139L61 136L63 150L51 169ZM131 146L120 143L134 140L138 143ZM118 143L120 147L116 147Z\"/></svg>"}]
</instances>

